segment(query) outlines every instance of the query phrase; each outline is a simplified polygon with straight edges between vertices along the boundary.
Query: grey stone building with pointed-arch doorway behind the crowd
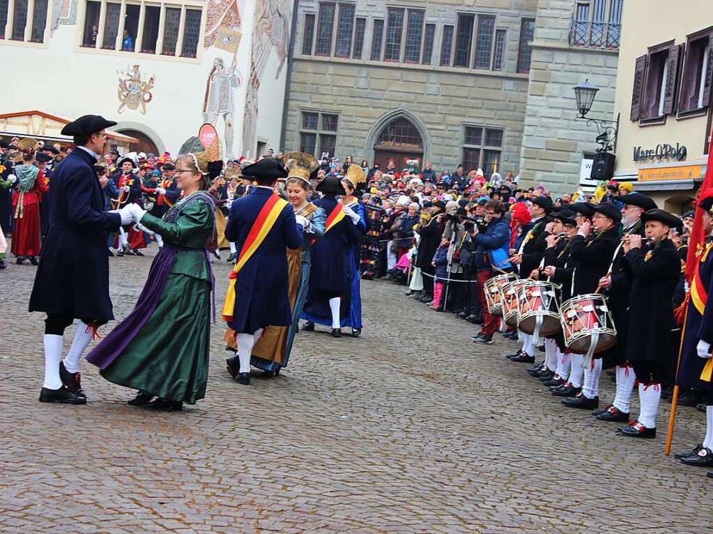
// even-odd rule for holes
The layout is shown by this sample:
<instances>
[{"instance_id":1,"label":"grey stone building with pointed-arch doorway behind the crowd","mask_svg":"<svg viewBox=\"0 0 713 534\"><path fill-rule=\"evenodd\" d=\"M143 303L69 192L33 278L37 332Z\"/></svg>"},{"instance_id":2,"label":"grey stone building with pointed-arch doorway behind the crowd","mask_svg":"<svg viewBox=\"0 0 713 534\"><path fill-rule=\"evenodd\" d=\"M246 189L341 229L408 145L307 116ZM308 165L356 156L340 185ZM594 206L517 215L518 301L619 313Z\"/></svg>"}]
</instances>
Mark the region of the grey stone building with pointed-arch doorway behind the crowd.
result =
<instances>
[{"instance_id":1,"label":"grey stone building with pointed-arch doorway behind the crowd","mask_svg":"<svg viewBox=\"0 0 713 534\"><path fill-rule=\"evenodd\" d=\"M573 86L595 73L611 115L621 1L302 0L283 145L571 189L597 147Z\"/></svg>"}]
</instances>

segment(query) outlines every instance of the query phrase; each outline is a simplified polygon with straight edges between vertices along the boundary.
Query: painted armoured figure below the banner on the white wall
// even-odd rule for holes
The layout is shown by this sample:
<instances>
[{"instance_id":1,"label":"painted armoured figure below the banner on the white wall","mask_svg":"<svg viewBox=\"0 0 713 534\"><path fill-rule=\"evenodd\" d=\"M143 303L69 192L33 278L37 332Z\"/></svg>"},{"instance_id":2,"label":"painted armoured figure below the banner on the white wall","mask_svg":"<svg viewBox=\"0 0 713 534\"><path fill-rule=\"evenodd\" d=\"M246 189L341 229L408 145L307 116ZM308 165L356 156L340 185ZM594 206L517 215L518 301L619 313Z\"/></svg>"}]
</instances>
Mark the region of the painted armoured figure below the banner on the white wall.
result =
<instances>
[{"instance_id":1,"label":"painted armoured figure below the banner on the white wall","mask_svg":"<svg viewBox=\"0 0 713 534\"><path fill-rule=\"evenodd\" d=\"M225 68L222 58L215 58L208 75L203 98L203 122L213 126L222 118L225 126L225 148L232 155L233 129L235 127L235 98L233 93L242 87L242 76L237 70L237 50L232 56L230 68Z\"/></svg>"}]
</instances>

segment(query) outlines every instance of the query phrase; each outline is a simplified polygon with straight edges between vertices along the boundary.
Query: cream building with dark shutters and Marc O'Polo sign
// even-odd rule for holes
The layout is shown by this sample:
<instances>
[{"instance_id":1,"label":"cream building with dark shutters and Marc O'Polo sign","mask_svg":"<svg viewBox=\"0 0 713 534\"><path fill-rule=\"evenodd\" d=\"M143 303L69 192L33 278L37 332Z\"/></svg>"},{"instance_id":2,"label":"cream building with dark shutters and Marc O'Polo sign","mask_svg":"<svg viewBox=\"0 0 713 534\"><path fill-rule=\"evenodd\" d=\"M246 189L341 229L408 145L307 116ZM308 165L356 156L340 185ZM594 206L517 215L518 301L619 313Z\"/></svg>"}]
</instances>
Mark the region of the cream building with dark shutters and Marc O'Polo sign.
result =
<instances>
[{"instance_id":1,"label":"cream building with dark shutters and Marc O'Polo sign","mask_svg":"<svg viewBox=\"0 0 713 534\"><path fill-rule=\"evenodd\" d=\"M709 0L624 9L615 113L615 177L660 207L689 208L707 167L713 122L713 6Z\"/></svg>"}]
</instances>

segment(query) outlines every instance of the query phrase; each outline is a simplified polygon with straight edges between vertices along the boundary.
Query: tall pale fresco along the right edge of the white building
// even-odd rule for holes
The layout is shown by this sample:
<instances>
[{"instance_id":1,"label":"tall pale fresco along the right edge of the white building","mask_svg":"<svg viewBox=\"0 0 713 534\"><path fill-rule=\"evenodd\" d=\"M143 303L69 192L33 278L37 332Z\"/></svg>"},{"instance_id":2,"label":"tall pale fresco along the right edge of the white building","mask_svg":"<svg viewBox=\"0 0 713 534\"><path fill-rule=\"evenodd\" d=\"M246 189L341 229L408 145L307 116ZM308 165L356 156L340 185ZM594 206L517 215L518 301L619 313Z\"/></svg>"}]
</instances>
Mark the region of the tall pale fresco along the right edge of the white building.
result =
<instances>
[{"instance_id":1,"label":"tall pale fresco along the right edge of the white building","mask_svg":"<svg viewBox=\"0 0 713 534\"><path fill-rule=\"evenodd\" d=\"M275 80L279 78L287 60L291 18L292 6L289 0L257 0L255 29L252 33L250 83L247 85L245 117L242 125L242 150L248 155L252 155L257 142L258 97L262 76L265 74L272 51L275 51L279 60L275 70Z\"/></svg>"}]
</instances>

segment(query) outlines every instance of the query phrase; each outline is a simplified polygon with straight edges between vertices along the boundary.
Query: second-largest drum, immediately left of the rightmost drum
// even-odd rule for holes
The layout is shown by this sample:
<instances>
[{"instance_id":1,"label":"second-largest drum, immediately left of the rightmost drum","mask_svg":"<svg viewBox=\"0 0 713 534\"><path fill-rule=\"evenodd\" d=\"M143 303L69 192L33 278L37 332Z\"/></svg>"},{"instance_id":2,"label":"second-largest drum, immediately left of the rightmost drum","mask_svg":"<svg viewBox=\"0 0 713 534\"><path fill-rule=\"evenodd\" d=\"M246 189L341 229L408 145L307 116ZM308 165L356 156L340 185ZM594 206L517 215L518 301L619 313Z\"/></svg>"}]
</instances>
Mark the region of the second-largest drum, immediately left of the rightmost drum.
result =
<instances>
[{"instance_id":1,"label":"second-largest drum, immediately left of the rightmost drum","mask_svg":"<svg viewBox=\"0 0 713 534\"><path fill-rule=\"evenodd\" d=\"M552 282L530 280L518 291L518 329L525 334L553 335L560 330L557 286Z\"/></svg>"}]
</instances>

